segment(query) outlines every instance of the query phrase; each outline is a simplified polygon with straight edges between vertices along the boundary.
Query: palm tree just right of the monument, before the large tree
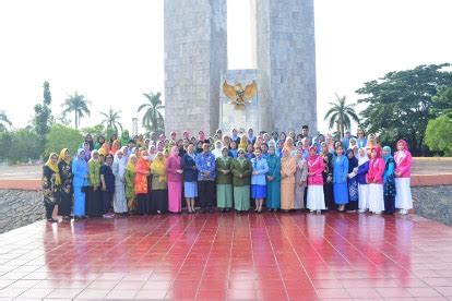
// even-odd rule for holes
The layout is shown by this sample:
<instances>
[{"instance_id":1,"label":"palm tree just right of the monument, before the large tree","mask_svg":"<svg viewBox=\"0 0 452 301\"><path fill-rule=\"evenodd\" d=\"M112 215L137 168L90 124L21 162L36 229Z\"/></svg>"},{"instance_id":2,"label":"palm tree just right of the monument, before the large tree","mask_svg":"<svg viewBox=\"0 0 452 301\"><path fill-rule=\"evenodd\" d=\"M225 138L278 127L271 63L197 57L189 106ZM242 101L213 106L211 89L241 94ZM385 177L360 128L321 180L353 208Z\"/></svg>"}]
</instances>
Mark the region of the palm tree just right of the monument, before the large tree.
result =
<instances>
[{"instance_id":1,"label":"palm tree just right of the monument, before the large tree","mask_svg":"<svg viewBox=\"0 0 452 301\"><path fill-rule=\"evenodd\" d=\"M332 108L325 113L324 120L329 119L329 129L333 129L334 125L337 127L337 132L341 134L341 139L344 137L345 129L349 129L352 125L352 120L356 123L359 123L359 118L355 112L356 104L346 105L346 97L340 97L336 94L336 103L330 103Z\"/></svg>"}]
</instances>

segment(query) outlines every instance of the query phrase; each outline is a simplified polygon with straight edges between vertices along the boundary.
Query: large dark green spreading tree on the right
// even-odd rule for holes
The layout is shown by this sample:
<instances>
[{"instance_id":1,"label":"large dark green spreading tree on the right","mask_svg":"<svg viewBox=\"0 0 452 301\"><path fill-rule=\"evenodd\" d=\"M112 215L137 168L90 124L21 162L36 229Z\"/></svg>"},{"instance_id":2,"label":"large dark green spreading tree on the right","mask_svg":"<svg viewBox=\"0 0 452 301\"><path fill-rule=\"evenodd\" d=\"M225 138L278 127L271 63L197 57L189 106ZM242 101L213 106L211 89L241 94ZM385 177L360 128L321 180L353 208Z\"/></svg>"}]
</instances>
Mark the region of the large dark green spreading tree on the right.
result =
<instances>
[{"instance_id":1,"label":"large dark green spreading tree on the right","mask_svg":"<svg viewBox=\"0 0 452 301\"><path fill-rule=\"evenodd\" d=\"M452 72L441 71L449 65L419 65L365 83L357 91L365 97L358 103L368 105L361 111L362 125L378 133L383 144L393 144L403 137L415 155L425 155L427 123L438 117L432 96L437 95L438 87L452 86Z\"/></svg>"}]
</instances>

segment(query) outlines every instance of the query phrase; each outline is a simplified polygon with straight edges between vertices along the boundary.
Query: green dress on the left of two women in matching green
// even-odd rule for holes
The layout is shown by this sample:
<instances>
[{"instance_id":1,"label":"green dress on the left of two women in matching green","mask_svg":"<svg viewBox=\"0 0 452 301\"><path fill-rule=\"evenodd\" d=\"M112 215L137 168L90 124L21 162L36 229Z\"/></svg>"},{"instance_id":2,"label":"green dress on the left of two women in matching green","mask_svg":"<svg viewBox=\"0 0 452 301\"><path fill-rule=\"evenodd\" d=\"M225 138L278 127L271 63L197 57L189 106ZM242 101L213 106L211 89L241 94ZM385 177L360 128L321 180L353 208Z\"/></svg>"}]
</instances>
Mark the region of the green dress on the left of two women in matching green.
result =
<instances>
[{"instance_id":1,"label":"green dress on the left of two women in matching green","mask_svg":"<svg viewBox=\"0 0 452 301\"><path fill-rule=\"evenodd\" d=\"M233 207L233 177L230 173L231 157L216 159L216 203L218 208ZM224 174L222 170L229 170Z\"/></svg>"}]
</instances>

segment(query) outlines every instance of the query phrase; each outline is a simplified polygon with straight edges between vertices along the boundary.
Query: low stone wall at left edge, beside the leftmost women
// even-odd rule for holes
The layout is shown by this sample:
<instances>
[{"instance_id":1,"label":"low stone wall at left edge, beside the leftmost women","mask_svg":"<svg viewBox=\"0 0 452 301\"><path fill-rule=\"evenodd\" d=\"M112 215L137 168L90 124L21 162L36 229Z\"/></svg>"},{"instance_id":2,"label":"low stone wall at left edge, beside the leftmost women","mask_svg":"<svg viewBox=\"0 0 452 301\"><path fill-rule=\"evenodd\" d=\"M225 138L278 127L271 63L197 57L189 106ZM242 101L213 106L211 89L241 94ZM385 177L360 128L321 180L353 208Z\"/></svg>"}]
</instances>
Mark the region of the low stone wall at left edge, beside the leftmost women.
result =
<instances>
[{"instance_id":1,"label":"low stone wall at left edge, beside the leftmost women","mask_svg":"<svg viewBox=\"0 0 452 301\"><path fill-rule=\"evenodd\" d=\"M39 191L0 190L0 233L45 217Z\"/></svg>"}]
</instances>

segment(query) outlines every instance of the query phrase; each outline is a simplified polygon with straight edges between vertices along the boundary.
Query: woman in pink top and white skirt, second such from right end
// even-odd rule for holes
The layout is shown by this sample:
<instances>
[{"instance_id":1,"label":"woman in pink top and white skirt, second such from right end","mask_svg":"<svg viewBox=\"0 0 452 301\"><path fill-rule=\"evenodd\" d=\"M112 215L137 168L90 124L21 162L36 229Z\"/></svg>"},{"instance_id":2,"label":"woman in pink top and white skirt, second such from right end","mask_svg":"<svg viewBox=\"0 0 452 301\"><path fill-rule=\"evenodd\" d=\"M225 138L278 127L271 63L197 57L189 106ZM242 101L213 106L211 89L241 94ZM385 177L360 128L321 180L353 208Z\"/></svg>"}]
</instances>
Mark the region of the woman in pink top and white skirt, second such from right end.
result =
<instances>
[{"instance_id":1,"label":"woman in pink top and white skirt, second such from right end","mask_svg":"<svg viewBox=\"0 0 452 301\"><path fill-rule=\"evenodd\" d=\"M376 145L370 150L369 171L367 173L369 212L373 214L381 214L384 210L383 173L384 160L381 158L381 147Z\"/></svg>"}]
</instances>

